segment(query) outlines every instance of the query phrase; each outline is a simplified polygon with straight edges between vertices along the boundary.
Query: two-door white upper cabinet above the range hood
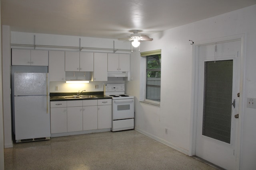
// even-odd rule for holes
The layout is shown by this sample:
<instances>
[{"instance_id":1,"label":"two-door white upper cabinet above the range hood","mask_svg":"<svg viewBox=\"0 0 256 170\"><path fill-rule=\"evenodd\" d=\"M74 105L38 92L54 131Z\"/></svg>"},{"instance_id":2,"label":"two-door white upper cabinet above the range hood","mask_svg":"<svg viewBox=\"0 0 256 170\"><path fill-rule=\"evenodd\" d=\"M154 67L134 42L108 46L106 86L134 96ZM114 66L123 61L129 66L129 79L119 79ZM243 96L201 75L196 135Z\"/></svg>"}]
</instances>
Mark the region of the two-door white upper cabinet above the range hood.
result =
<instances>
[{"instance_id":1,"label":"two-door white upper cabinet above the range hood","mask_svg":"<svg viewBox=\"0 0 256 170\"><path fill-rule=\"evenodd\" d=\"M129 72L130 54L108 53L108 72Z\"/></svg>"}]
</instances>

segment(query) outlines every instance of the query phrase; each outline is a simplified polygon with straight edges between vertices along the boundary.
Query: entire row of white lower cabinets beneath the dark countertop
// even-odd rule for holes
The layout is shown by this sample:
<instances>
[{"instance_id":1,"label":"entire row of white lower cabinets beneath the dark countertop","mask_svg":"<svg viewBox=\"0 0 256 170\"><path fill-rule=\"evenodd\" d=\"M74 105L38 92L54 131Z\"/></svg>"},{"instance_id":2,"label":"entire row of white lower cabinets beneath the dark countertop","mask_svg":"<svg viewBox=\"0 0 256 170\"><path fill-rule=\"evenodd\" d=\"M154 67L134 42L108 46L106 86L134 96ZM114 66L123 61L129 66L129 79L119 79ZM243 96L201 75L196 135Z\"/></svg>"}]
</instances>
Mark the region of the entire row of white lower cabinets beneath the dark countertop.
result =
<instances>
[{"instance_id":1,"label":"entire row of white lower cabinets beneath the dark countertop","mask_svg":"<svg viewBox=\"0 0 256 170\"><path fill-rule=\"evenodd\" d=\"M51 102L51 133L107 129L112 126L112 99Z\"/></svg>"}]
</instances>

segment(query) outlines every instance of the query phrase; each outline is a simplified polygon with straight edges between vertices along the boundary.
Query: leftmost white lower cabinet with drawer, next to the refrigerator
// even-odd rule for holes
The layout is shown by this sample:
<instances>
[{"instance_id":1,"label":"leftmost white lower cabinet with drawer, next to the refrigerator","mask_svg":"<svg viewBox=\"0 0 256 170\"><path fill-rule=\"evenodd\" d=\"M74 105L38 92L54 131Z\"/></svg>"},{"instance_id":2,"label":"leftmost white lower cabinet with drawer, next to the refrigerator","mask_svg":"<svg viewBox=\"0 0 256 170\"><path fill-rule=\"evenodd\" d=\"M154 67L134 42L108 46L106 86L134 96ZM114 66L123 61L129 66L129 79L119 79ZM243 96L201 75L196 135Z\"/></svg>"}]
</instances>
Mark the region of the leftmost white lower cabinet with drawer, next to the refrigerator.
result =
<instances>
[{"instance_id":1,"label":"leftmost white lower cabinet with drawer, next to the refrigerator","mask_svg":"<svg viewBox=\"0 0 256 170\"><path fill-rule=\"evenodd\" d=\"M67 101L50 103L51 133L64 133L67 128Z\"/></svg>"}]
</instances>

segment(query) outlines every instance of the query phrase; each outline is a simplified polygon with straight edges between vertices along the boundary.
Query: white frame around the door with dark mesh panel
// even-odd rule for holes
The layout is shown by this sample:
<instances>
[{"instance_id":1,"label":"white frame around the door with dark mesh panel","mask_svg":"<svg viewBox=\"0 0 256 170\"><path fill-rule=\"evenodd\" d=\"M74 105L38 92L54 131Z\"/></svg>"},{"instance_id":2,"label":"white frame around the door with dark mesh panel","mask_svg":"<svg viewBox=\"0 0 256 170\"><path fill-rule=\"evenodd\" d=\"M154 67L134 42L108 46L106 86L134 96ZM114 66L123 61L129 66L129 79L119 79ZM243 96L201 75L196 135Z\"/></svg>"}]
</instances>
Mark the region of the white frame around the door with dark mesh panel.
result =
<instances>
[{"instance_id":1,"label":"white frame around the door with dark mesh panel","mask_svg":"<svg viewBox=\"0 0 256 170\"><path fill-rule=\"evenodd\" d=\"M191 92L191 113L190 114L190 136L188 156L196 154L196 125L197 125L197 106L198 106L198 73L199 73L199 46L215 44L225 41L241 40L241 61L240 61L240 102L239 102L239 118L237 127L237 143L236 143L236 169L240 167L240 149L241 149L241 134L242 134L242 118L244 107L244 61L245 61L245 40L246 34L231 35L215 39L208 39L195 42L192 47L192 92Z\"/></svg>"}]
</instances>

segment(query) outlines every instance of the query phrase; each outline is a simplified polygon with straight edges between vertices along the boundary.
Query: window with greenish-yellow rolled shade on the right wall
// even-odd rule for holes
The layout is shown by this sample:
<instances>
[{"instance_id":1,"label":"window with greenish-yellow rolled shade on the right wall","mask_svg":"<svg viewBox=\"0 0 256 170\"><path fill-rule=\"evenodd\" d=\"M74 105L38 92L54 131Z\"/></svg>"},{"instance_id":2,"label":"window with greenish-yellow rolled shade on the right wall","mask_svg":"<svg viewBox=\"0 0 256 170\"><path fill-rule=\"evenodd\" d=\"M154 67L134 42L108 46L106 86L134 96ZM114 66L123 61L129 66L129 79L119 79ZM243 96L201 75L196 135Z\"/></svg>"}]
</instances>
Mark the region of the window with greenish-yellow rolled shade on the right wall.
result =
<instances>
[{"instance_id":1,"label":"window with greenish-yellow rolled shade on the right wall","mask_svg":"<svg viewBox=\"0 0 256 170\"><path fill-rule=\"evenodd\" d=\"M161 92L161 50L141 53L146 57L145 100L160 103Z\"/></svg>"}]
</instances>

